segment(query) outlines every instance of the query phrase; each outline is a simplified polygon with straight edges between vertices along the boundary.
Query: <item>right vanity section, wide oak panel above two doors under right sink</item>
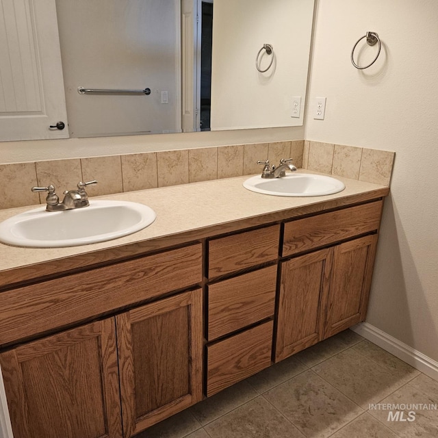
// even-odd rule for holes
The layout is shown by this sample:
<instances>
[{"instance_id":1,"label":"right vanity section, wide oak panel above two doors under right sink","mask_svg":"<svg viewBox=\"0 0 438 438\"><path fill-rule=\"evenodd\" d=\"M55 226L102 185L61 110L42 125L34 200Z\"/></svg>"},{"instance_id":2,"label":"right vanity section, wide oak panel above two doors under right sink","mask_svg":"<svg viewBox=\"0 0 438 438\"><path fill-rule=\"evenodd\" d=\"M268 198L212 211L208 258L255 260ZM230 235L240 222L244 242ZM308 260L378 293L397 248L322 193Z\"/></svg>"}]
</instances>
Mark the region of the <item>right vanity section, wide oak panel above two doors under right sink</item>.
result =
<instances>
[{"instance_id":1,"label":"right vanity section, wide oak panel above two doors under right sink","mask_svg":"<svg viewBox=\"0 0 438 438\"><path fill-rule=\"evenodd\" d=\"M283 255L329 248L281 262L276 362L365 320L382 207L376 201L285 224Z\"/></svg>"}]
</instances>

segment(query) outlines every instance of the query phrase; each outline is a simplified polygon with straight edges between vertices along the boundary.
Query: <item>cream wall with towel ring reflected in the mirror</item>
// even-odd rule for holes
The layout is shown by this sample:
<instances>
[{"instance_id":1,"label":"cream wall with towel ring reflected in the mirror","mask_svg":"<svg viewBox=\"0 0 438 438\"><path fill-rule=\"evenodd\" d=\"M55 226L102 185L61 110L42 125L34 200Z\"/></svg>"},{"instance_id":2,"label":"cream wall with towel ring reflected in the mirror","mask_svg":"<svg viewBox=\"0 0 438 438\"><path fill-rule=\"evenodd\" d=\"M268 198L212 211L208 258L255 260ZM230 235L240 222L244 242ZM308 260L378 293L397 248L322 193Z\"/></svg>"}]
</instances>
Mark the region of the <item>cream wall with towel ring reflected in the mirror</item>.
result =
<instances>
[{"instance_id":1,"label":"cream wall with towel ring reflected in the mirror","mask_svg":"<svg viewBox=\"0 0 438 438\"><path fill-rule=\"evenodd\" d=\"M302 125L292 98L304 106L313 0L214 0L213 14L211 129ZM259 73L265 43L274 62ZM261 70L271 59L262 51Z\"/></svg>"}]
</instances>

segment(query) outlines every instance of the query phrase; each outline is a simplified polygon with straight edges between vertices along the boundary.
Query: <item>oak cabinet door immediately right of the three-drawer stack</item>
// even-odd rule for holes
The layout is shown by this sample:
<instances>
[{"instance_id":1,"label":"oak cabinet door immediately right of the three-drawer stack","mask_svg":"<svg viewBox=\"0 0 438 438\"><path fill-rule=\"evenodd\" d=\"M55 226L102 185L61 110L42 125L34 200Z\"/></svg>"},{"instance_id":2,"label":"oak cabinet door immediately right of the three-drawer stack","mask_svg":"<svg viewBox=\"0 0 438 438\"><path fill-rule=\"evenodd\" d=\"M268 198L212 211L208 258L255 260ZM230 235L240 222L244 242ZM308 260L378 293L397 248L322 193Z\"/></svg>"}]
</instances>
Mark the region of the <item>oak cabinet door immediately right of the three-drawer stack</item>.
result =
<instances>
[{"instance_id":1,"label":"oak cabinet door immediately right of the three-drawer stack","mask_svg":"<svg viewBox=\"0 0 438 438\"><path fill-rule=\"evenodd\" d=\"M332 249L281 263L275 361L322 339Z\"/></svg>"}]
</instances>

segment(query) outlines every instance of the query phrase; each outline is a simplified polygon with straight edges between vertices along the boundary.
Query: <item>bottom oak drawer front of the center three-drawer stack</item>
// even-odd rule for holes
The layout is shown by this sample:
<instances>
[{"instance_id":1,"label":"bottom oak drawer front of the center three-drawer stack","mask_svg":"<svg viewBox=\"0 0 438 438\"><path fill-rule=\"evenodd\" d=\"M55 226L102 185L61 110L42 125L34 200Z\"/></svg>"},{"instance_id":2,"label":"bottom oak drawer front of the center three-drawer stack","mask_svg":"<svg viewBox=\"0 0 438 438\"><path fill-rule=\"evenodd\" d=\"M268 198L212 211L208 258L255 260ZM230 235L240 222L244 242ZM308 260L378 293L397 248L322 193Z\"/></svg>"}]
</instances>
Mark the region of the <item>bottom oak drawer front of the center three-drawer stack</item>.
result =
<instances>
[{"instance_id":1,"label":"bottom oak drawer front of the center three-drawer stack","mask_svg":"<svg viewBox=\"0 0 438 438\"><path fill-rule=\"evenodd\" d=\"M268 368L272 321L207 347L207 397Z\"/></svg>"}]
</instances>

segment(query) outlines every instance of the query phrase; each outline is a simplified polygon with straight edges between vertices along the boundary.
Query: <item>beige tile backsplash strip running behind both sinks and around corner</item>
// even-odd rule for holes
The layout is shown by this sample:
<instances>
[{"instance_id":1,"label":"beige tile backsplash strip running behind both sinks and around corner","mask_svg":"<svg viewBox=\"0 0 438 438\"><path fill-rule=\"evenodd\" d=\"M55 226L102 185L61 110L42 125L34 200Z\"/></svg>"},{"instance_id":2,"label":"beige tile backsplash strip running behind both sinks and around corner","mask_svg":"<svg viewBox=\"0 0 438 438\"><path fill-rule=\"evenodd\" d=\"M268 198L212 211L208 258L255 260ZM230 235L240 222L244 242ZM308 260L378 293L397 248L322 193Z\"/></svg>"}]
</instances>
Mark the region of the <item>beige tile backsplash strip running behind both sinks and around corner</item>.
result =
<instances>
[{"instance_id":1,"label":"beige tile backsplash strip running behind both sinks and around corner","mask_svg":"<svg viewBox=\"0 0 438 438\"><path fill-rule=\"evenodd\" d=\"M75 188L79 181L96 179L90 196L131 192L253 175L261 172L257 160L294 159L298 168L389 185L394 153L308 140L237 144L107 157L58 159L0 165L0 209L44 203L45 194L32 193L34 185L55 185L57 193Z\"/></svg>"}]
</instances>

